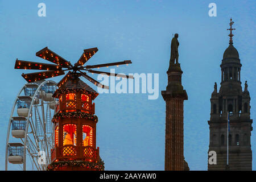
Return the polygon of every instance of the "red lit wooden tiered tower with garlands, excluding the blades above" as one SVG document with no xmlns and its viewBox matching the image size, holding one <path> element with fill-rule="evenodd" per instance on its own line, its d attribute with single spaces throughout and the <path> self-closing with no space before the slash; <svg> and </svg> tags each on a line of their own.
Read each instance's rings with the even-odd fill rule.
<svg viewBox="0 0 256 182">
<path fill-rule="evenodd" d="M 55 148 L 51 151 L 53 170 L 102 170 L 99 148 L 96 147 L 96 124 L 92 101 L 98 93 L 80 80 L 68 80 L 53 94 L 59 99 L 53 116 Z"/>
</svg>

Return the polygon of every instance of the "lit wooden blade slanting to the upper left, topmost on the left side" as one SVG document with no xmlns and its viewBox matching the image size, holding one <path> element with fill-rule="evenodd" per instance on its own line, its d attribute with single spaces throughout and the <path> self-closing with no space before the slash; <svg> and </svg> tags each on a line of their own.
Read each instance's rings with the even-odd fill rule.
<svg viewBox="0 0 256 182">
<path fill-rule="evenodd" d="M 68 68 L 71 63 L 65 60 L 63 57 L 57 55 L 55 52 L 48 49 L 48 47 L 43 48 L 42 50 L 36 52 L 36 56 L 41 57 L 47 61 L 51 61 L 61 67 Z"/>
</svg>

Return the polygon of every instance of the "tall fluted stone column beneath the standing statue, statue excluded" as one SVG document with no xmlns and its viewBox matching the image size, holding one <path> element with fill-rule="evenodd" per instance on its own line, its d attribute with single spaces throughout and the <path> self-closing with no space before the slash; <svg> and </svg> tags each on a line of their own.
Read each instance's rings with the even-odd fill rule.
<svg viewBox="0 0 256 182">
<path fill-rule="evenodd" d="M 181 85 L 182 71 L 179 63 L 171 63 L 167 71 L 168 85 L 162 91 L 166 101 L 166 146 L 164 169 L 166 171 L 188 170 L 183 154 L 183 102 L 188 100 Z"/>
</svg>

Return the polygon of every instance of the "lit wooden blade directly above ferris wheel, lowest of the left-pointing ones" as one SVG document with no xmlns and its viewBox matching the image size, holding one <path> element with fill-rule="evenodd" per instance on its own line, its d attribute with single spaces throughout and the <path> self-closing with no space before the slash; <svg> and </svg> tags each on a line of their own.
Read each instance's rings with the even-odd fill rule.
<svg viewBox="0 0 256 182">
<path fill-rule="evenodd" d="M 43 80 L 46 78 L 56 77 L 60 75 L 64 75 L 64 71 L 45 71 L 45 72 L 35 72 L 35 73 L 22 73 L 22 77 L 27 80 L 27 82 L 34 82 Z"/>
</svg>

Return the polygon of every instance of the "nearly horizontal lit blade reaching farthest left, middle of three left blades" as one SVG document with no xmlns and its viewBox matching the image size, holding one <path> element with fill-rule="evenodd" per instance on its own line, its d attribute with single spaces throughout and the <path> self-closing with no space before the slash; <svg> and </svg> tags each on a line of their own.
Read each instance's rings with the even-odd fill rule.
<svg viewBox="0 0 256 182">
<path fill-rule="evenodd" d="M 23 61 L 16 59 L 14 66 L 15 69 L 39 69 L 39 70 L 49 70 L 49 71 L 60 71 L 61 66 L 55 64 L 46 63 L 36 63 L 32 61 Z"/>
</svg>

